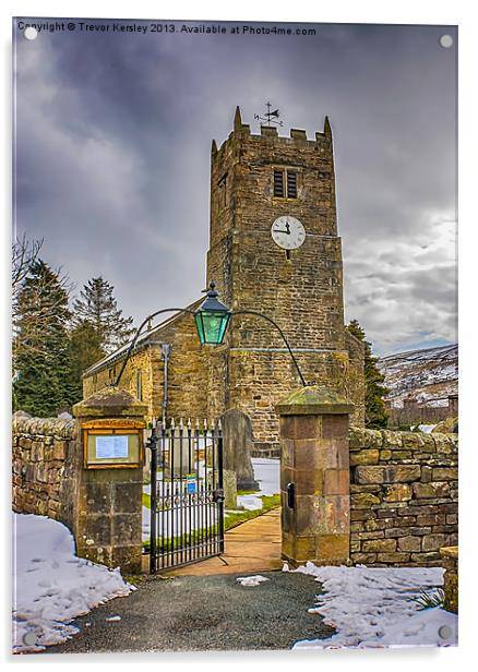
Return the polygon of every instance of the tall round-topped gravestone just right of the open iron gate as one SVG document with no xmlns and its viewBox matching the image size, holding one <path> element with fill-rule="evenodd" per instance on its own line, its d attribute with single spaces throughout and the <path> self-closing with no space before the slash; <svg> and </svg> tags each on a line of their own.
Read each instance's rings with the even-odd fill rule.
<svg viewBox="0 0 478 672">
<path fill-rule="evenodd" d="M 238 490 L 259 490 L 251 461 L 252 423 L 241 410 L 227 410 L 220 418 L 224 436 L 224 470 L 234 471 Z"/>
</svg>

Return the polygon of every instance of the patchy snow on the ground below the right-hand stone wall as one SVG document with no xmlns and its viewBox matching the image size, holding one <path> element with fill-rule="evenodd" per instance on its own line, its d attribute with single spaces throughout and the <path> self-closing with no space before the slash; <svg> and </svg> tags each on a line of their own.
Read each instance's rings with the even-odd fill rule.
<svg viewBox="0 0 478 672">
<path fill-rule="evenodd" d="M 284 571 L 288 572 L 287 565 Z M 309 611 L 319 613 L 337 634 L 301 640 L 294 648 L 365 648 L 456 646 L 458 617 L 440 608 L 420 610 L 411 601 L 421 590 L 433 593 L 443 584 L 440 567 L 316 567 L 308 562 L 296 572 L 323 584 L 324 595 Z"/>
</svg>

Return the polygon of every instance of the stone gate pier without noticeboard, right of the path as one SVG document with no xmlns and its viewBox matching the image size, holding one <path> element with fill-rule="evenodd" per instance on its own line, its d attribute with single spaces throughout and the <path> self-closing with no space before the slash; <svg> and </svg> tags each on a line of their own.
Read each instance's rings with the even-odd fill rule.
<svg viewBox="0 0 478 672">
<path fill-rule="evenodd" d="M 349 560 L 348 419 L 354 405 L 320 386 L 276 406 L 280 416 L 283 557 L 292 564 Z"/>
</svg>

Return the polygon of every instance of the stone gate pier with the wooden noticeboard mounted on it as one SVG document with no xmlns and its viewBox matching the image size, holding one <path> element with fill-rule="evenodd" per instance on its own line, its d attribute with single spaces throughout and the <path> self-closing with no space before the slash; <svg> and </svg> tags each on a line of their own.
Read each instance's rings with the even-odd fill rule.
<svg viewBox="0 0 478 672">
<path fill-rule="evenodd" d="M 105 387 L 73 406 L 77 421 L 77 502 L 74 517 L 76 552 L 82 557 L 141 572 L 143 429 L 147 407 L 126 389 Z M 138 435 L 138 456 L 88 464 L 87 432 L 109 436 Z M 113 434 L 112 434 L 113 435 Z"/>
</svg>

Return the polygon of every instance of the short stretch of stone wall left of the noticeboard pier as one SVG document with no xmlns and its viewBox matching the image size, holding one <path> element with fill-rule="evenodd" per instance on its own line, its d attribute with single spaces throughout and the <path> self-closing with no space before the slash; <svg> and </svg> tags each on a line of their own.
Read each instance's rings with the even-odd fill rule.
<svg viewBox="0 0 478 672">
<path fill-rule="evenodd" d="M 75 421 L 15 413 L 13 511 L 49 516 L 72 528 Z"/>
</svg>

